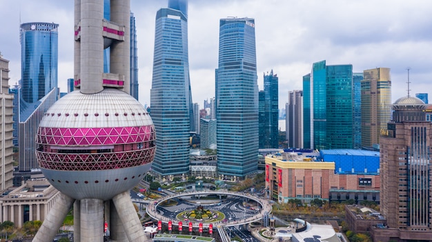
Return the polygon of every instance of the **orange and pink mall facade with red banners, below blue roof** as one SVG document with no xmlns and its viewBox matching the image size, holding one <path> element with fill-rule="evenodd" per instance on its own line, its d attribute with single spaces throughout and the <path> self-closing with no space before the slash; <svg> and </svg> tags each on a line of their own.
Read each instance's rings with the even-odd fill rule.
<svg viewBox="0 0 432 242">
<path fill-rule="evenodd" d="M 300 199 L 379 201 L 380 176 L 377 174 L 342 174 L 335 172 L 335 162 L 313 161 L 297 153 L 266 158 L 266 188 L 273 201 L 288 203 Z"/>
</svg>

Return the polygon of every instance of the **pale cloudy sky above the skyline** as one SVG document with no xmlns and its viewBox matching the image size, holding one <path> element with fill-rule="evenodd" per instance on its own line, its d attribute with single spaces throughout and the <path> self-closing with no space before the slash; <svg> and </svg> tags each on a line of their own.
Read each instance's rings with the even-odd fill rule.
<svg viewBox="0 0 432 242">
<path fill-rule="evenodd" d="M 59 87 L 73 77 L 73 1 L 0 0 L 0 51 L 10 60 L 10 85 L 21 76 L 19 23 L 59 23 Z M 137 21 L 139 101 L 150 104 L 155 15 L 166 0 L 131 0 Z M 302 89 L 312 63 L 353 65 L 355 72 L 391 68 L 392 101 L 432 94 L 432 1 L 415 0 L 190 0 L 188 36 L 193 102 L 215 95 L 219 19 L 255 18 L 259 89 L 263 74 L 279 77 L 279 107 Z M 431 97 L 432 98 L 432 97 Z"/>
</svg>

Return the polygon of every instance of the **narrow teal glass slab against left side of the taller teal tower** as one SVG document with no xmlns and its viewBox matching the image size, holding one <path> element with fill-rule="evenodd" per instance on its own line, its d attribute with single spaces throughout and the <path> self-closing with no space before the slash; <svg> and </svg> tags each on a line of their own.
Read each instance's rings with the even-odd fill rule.
<svg viewBox="0 0 432 242">
<path fill-rule="evenodd" d="M 311 74 L 303 76 L 303 148 L 312 149 Z M 288 115 L 286 115 L 288 117 Z M 288 122 L 286 122 L 288 123 Z M 288 129 L 287 129 L 288 130 Z M 286 137 L 288 139 L 288 137 Z"/>
</svg>

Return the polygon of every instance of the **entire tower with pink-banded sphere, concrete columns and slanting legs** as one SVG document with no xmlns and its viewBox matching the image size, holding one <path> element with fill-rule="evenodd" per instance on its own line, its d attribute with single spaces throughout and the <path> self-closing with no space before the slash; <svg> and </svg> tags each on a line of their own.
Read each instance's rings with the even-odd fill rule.
<svg viewBox="0 0 432 242">
<path fill-rule="evenodd" d="M 130 1 L 75 0 L 75 91 L 44 114 L 37 159 L 61 192 L 33 241 L 52 241 L 74 208 L 75 241 L 146 241 L 129 190 L 155 156 L 155 127 L 130 96 Z M 110 73 L 104 50 L 110 47 Z"/>
</svg>

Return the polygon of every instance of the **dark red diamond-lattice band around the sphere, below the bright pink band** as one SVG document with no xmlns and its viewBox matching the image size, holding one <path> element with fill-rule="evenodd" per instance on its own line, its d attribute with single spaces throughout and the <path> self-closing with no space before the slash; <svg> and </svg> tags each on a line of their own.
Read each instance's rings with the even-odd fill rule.
<svg viewBox="0 0 432 242">
<path fill-rule="evenodd" d="M 145 165 L 153 161 L 155 147 L 112 153 L 63 154 L 37 151 L 41 168 L 50 170 L 111 170 Z"/>
</svg>

